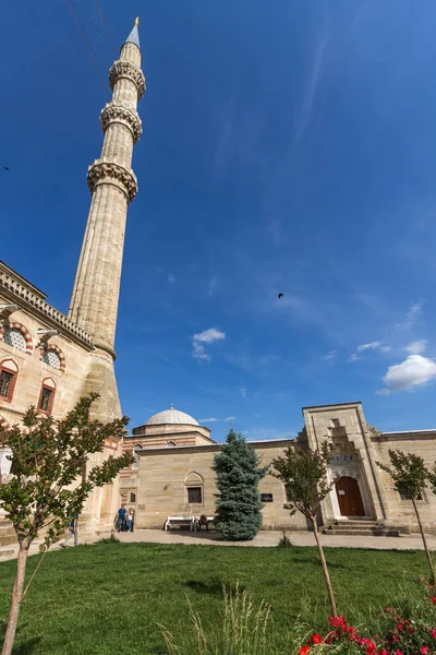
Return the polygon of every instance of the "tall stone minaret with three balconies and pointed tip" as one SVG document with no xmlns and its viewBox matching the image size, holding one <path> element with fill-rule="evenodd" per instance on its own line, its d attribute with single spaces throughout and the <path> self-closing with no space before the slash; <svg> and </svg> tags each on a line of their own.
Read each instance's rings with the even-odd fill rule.
<svg viewBox="0 0 436 655">
<path fill-rule="evenodd" d="M 100 116 L 101 157 L 88 169 L 92 201 L 69 311 L 69 318 L 93 338 L 95 350 L 83 393 L 100 393 L 95 413 L 107 420 L 121 414 L 113 344 L 125 219 L 137 191 L 131 168 L 133 145 L 142 133 L 136 106 L 145 91 L 137 25 L 138 19 L 109 72 L 112 99 Z"/>
</svg>

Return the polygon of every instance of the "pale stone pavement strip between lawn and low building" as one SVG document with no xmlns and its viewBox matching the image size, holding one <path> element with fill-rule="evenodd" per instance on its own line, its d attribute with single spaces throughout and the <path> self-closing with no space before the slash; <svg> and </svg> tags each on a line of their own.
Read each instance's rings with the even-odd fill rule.
<svg viewBox="0 0 436 655">
<path fill-rule="evenodd" d="M 252 541 L 222 541 L 215 531 L 209 533 L 191 533 L 185 529 L 172 528 L 169 532 L 161 529 L 137 529 L 134 533 L 120 533 L 116 536 L 123 543 L 149 543 L 149 544 L 197 544 L 202 546 L 244 546 L 244 547 L 275 547 L 278 545 L 282 533 L 277 531 L 262 531 Z M 315 546 L 315 539 L 312 533 L 304 531 L 288 531 L 288 537 L 293 546 Z M 80 538 L 81 544 L 93 544 L 107 535 L 97 537 Z M 436 535 L 427 535 L 431 550 L 436 551 Z M 31 553 L 38 552 L 40 541 L 32 545 Z M 346 535 L 322 535 L 322 543 L 325 547 L 334 548 L 375 548 L 378 550 L 423 550 L 423 544 L 420 535 L 404 535 L 401 537 L 362 537 Z M 72 547 L 72 546 L 71 546 Z M 51 547 L 50 550 L 59 550 L 59 544 Z M 16 546 L 2 546 L 0 548 L 0 561 L 14 559 L 16 557 Z"/>
</svg>

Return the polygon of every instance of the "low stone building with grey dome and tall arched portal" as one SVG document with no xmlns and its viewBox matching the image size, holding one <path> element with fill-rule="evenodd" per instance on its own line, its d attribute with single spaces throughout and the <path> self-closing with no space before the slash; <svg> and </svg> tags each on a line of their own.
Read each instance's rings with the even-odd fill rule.
<svg viewBox="0 0 436 655">
<path fill-rule="evenodd" d="M 304 407 L 304 429 L 296 439 L 254 441 L 264 465 L 287 448 L 330 444 L 329 479 L 335 487 L 322 504 L 319 524 L 327 534 L 398 535 L 417 531 L 412 502 L 398 493 L 378 465 L 389 463 L 389 449 L 413 452 L 433 466 L 436 430 L 380 433 L 365 420 L 361 403 Z M 214 443 L 191 416 L 174 409 L 152 417 L 133 430 L 123 448 L 136 462 L 122 473 L 120 491 L 136 510 L 136 526 L 161 527 L 170 515 L 214 515 L 216 483 Z M 206 428 L 203 428 L 206 430 Z M 263 527 L 307 529 L 302 515 L 284 510 L 286 489 L 268 474 L 259 485 L 264 501 Z M 436 496 L 424 489 L 419 501 L 423 522 L 436 531 Z"/>
</svg>

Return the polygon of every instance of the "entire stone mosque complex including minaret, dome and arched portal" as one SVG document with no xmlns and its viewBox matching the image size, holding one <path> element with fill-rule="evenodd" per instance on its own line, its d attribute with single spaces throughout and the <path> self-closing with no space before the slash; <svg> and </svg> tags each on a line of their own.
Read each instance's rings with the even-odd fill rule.
<svg viewBox="0 0 436 655">
<path fill-rule="evenodd" d="M 133 146 L 142 123 L 137 103 L 145 92 L 137 20 L 109 72 L 110 102 L 100 115 L 104 144 L 88 168 L 90 207 L 68 315 L 16 271 L 0 262 L 0 422 L 20 422 L 29 405 L 60 418 L 76 401 L 98 391 L 94 413 L 100 420 L 121 416 L 113 362 L 120 276 L 128 207 L 137 192 L 132 170 Z M 433 465 L 436 430 L 380 433 L 365 420 L 361 403 L 303 408 L 304 427 L 295 440 L 253 442 L 268 464 L 283 449 L 331 445 L 329 476 L 335 487 L 323 503 L 320 523 L 327 534 L 399 534 L 416 531 L 407 495 L 398 493 L 376 462 L 388 450 L 414 452 Z M 170 515 L 215 513 L 214 455 L 220 444 L 210 430 L 174 407 L 140 427 L 122 442 L 107 439 L 110 454 L 132 450 L 131 468 L 96 489 L 81 521 L 88 533 L 109 531 L 123 500 L 135 509 L 136 528 L 161 528 Z M 9 450 L 0 444 L 0 484 L 11 475 Z M 264 528 L 307 529 L 302 516 L 283 509 L 286 489 L 267 475 L 261 483 Z M 427 529 L 436 529 L 436 497 L 423 489 L 419 500 Z M 14 539 L 0 515 L 0 545 Z"/>
</svg>

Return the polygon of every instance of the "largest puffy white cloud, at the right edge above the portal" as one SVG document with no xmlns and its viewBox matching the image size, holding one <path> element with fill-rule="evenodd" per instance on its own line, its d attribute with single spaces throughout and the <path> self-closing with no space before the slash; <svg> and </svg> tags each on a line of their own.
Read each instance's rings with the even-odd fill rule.
<svg viewBox="0 0 436 655">
<path fill-rule="evenodd" d="M 432 380 L 436 380 L 436 361 L 422 355 L 409 355 L 401 364 L 388 368 L 383 379 L 386 389 L 378 393 L 388 395 L 392 391 L 411 391 Z"/>
</svg>

